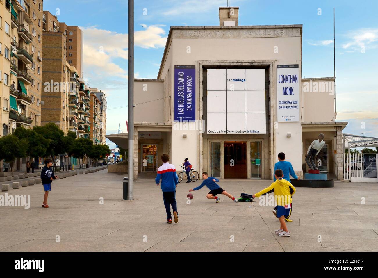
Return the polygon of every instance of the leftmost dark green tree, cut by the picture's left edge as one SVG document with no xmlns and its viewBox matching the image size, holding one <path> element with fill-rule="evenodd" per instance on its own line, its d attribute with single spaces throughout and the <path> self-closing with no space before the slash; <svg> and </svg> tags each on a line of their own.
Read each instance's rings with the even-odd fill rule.
<svg viewBox="0 0 378 278">
<path fill-rule="evenodd" d="M 0 138 L 0 159 L 12 162 L 16 158 L 26 156 L 28 141 L 26 139 L 19 140 L 15 135 L 7 135 Z"/>
</svg>

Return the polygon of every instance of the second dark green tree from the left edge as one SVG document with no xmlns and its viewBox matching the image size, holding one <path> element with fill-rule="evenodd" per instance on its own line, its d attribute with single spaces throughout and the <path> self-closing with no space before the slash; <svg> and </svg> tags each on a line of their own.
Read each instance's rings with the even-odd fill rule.
<svg viewBox="0 0 378 278">
<path fill-rule="evenodd" d="M 29 157 L 44 157 L 46 154 L 46 147 L 50 144 L 50 139 L 44 138 L 38 134 L 34 129 L 26 129 L 24 127 L 17 127 L 13 133 L 19 140 L 25 139 L 27 142 L 26 156 Z"/>
</svg>

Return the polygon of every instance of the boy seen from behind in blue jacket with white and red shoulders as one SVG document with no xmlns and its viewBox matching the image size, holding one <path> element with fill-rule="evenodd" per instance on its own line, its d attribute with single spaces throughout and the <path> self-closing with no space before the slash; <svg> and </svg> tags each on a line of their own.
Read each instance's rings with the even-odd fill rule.
<svg viewBox="0 0 378 278">
<path fill-rule="evenodd" d="M 177 202 L 176 202 L 176 187 L 178 184 L 178 177 L 176 174 L 176 168 L 174 165 L 169 164 L 169 155 L 162 154 L 161 160 L 163 160 L 163 165 L 158 169 L 158 174 L 156 175 L 156 185 L 160 184 L 161 179 L 161 191 L 163 191 L 163 201 L 167 212 L 167 223 L 172 223 L 172 214 L 170 213 L 170 206 L 172 206 L 173 216 L 175 223 L 178 222 L 177 213 Z"/>
</svg>

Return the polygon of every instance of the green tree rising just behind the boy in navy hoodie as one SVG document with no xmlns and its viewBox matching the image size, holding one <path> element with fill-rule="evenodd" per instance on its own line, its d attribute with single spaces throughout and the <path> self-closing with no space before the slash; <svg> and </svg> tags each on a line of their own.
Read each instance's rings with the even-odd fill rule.
<svg viewBox="0 0 378 278">
<path fill-rule="evenodd" d="M 54 155 L 63 154 L 66 149 L 63 130 L 54 123 L 48 123 L 45 126 L 35 126 L 33 130 L 43 138 L 50 139 L 50 143 L 46 146 L 46 156 L 51 157 L 55 165 Z"/>
</svg>

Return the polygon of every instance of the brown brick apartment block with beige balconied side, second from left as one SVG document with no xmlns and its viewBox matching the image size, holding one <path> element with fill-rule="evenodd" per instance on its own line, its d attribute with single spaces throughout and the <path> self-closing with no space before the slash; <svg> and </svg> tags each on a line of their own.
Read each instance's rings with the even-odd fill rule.
<svg viewBox="0 0 378 278">
<path fill-rule="evenodd" d="M 45 87 L 42 95 L 44 101 L 42 124 L 54 122 L 59 124 L 65 134 L 70 130 L 78 137 L 84 137 L 83 118 L 85 117 L 82 110 L 89 107 L 89 103 L 83 104 L 82 101 L 79 101 L 86 94 L 81 70 L 76 68 L 76 66 L 82 68 L 82 59 L 75 60 L 73 63 L 70 60 L 71 56 L 68 57 L 68 51 L 70 51 L 68 48 L 72 49 L 74 43 L 77 42 L 77 40 L 74 42 L 71 39 L 71 47 L 68 47 L 68 34 L 73 33 L 73 31 L 69 31 L 71 27 L 64 22 L 59 22 L 51 12 L 43 11 L 43 49 L 45 50 L 43 61 L 46 67 L 42 73 Z M 75 28 L 71 29 L 76 30 Z M 80 29 L 75 33 L 80 34 L 80 38 L 82 37 Z M 79 41 L 82 43 L 81 40 Z M 53 89 L 51 90 L 51 88 Z"/>
</svg>

